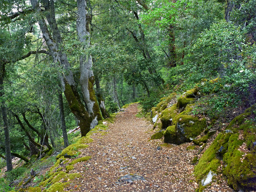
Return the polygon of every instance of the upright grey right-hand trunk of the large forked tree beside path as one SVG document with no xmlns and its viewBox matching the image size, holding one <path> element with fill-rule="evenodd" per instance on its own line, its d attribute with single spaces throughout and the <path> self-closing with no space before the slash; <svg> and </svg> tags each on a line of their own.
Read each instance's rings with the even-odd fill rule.
<svg viewBox="0 0 256 192">
<path fill-rule="evenodd" d="M 87 111 L 92 119 L 90 128 L 94 128 L 99 120 L 102 120 L 99 105 L 94 91 L 94 73 L 92 70 L 92 56 L 86 53 L 86 49 L 91 46 L 90 42 L 90 19 L 88 13 L 87 0 L 77 0 L 77 20 L 76 31 L 81 42 L 83 53 L 80 61 L 80 85 L 86 103 Z"/>
</svg>

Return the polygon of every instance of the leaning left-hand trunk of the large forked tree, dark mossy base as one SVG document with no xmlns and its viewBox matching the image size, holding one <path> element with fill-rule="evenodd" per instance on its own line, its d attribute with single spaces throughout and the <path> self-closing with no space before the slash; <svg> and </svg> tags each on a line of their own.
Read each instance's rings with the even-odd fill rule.
<svg viewBox="0 0 256 192">
<path fill-rule="evenodd" d="M 75 86 L 73 73 L 70 70 L 70 65 L 68 63 L 67 56 L 62 51 L 63 50 L 62 49 L 63 41 L 62 41 L 61 34 L 60 34 L 57 24 L 56 24 L 54 0 L 50 0 L 50 1 L 43 0 L 44 8 L 46 10 L 45 16 L 49 23 L 51 31 L 53 33 L 54 40 L 47 28 L 47 24 L 45 22 L 44 16 L 41 13 L 41 9 L 39 7 L 39 3 L 37 2 L 37 0 L 31 0 L 31 4 L 32 4 L 33 9 L 39 16 L 38 24 L 40 26 L 40 29 L 43 34 L 43 38 L 46 41 L 47 47 L 49 49 L 49 52 L 50 52 L 54 62 L 61 63 L 65 70 L 63 77 L 61 78 L 62 85 L 64 88 L 64 95 L 66 97 L 66 100 L 68 102 L 71 112 L 75 115 L 75 117 L 79 121 L 81 135 L 85 136 L 91 129 L 93 118 L 88 113 L 88 111 L 84 107 L 83 103 L 81 102 L 80 96 L 79 96 L 76 86 Z M 87 58 L 87 59 L 89 59 L 89 58 Z M 82 72 L 84 72 L 84 71 L 82 71 Z M 93 77 L 90 79 L 90 81 L 88 81 L 88 84 L 89 85 L 91 84 L 91 86 L 88 86 L 90 89 L 92 89 L 92 86 L 93 86 L 92 81 L 94 81 Z M 93 91 L 91 91 L 89 93 L 93 93 Z M 89 94 L 88 96 L 90 97 L 91 95 Z M 95 125 L 95 123 L 93 123 L 93 125 Z"/>
</svg>

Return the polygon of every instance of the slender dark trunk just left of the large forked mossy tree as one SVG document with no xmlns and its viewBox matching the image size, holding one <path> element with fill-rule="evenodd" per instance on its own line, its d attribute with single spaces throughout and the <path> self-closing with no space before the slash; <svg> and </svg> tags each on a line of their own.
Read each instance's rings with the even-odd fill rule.
<svg viewBox="0 0 256 192">
<path fill-rule="evenodd" d="M 61 88 L 61 85 L 60 85 Z M 60 105 L 60 116 L 61 116 L 61 123 L 62 123 L 62 135 L 64 140 L 64 147 L 66 148 L 68 144 L 68 138 L 66 134 L 66 123 L 65 123 L 65 116 L 64 116 L 64 106 L 63 106 L 63 97 L 62 92 L 59 91 L 59 105 Z"/>
</svg>

